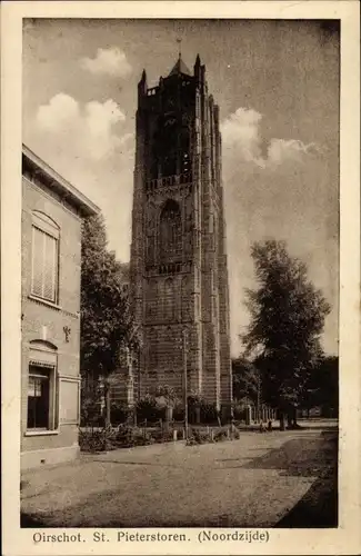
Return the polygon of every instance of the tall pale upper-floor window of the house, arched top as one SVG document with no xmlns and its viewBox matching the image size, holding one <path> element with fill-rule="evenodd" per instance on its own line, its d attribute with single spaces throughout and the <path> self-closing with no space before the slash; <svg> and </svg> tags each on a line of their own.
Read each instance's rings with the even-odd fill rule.
<svg viewBox="0 0 361 556">
<path fill-rule="evenodd" d="M 58 301 L 59 228 L 46 215 L 32 215 L 31 294 Z"/>
</svg>

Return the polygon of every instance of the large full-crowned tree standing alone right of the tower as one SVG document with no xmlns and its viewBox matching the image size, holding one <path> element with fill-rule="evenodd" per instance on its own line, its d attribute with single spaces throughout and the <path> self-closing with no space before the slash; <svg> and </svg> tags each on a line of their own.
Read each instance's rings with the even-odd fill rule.
<svg viewBox="0 0 361 556">
<path fill-rule="evenodd" d="M 247 290 L 250 325 L 241 336 L 262 376 L 262 396 L 297 426 L 297 407 L 310 374 L 318 366 L 324 319 L 330 306 L 307 277 L 307 267 L 291 257 L 284 241 L 255 242 L 251 248 L 259 288 Z"/>
</svg>

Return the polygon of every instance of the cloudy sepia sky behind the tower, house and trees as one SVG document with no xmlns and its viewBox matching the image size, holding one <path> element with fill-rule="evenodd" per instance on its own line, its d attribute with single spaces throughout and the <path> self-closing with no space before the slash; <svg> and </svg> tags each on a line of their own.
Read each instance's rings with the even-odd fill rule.
<svg viewBox="0 0 361 556">
<path fill-rule="evenodd" d="M 24 20 L 23 142 L 101 208 L 109 248 L 129 260 L 137 83 L 178 58 L 205 63 L 220 106 L 231 349 L 255 288 L 252 242 L 283 239 L 332 307 L 338 351 L 338 27 L 287 20 Z"/>
</svg>

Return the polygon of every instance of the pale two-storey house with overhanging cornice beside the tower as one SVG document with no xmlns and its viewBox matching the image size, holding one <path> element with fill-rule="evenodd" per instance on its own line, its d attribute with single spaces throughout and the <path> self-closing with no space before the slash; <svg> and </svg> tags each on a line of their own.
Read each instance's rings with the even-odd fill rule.
<svg viewBox="0 0 361 556">
<path fill-rule="evenodd" d="M 23 146 L 22 468 L 79 451 L 81 220 L 98 211 Z"/>
</svg>

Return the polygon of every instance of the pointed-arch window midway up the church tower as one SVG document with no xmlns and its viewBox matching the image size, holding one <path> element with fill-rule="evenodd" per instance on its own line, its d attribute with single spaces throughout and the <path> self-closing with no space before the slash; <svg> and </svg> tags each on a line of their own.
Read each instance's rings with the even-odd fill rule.
<svg viewBox="0 0 361 556">
<path fill-rule="evenodd" d="M 166 201 L 159 222 L 160 259 L 162 262 L 179 260 L 182 252 L 182 217 L 178 202 Z"/>
</svg>

